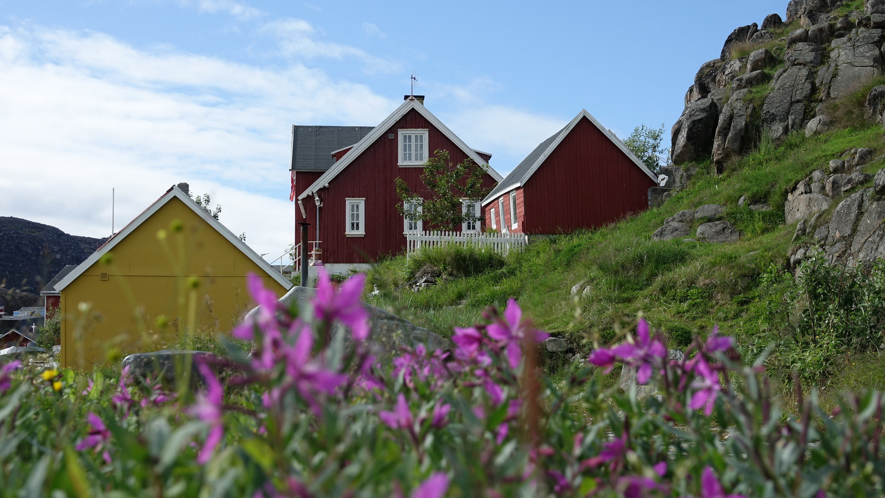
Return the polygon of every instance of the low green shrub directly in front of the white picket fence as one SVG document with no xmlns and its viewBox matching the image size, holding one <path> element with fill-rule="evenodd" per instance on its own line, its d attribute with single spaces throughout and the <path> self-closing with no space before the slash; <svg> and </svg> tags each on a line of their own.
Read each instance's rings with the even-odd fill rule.
<svg viewBox="0 0 885 498">
<path fill-rule="evenodd" d="M 446 244 L 421 248 L 408 257 L 406 269 L 409 280 L 414 279 L 415 273 L 427 265 L 438 268 L 444 276 L 462 278 L 501 268 L 504 257 L 494 250 L 476 245 Z"/>
</svg>

